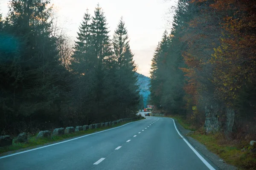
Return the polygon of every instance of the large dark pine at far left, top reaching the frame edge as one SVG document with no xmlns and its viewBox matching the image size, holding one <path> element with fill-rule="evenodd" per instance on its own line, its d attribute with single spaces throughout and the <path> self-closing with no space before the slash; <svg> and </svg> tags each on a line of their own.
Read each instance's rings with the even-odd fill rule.
<svg viewBox="0 0 256 170">
<path fill-rule="evenodd" d="M 10 2 L 5 32 L 7 42 L 12 41 L 12 50 L 4 52 L 0 62 L 4 82 L 1 101 L 5 103 L 1 113 L 6 115 L 4 125 L 9 130 L 30 131 L 30 127 L 49 122 L 50 117 L 58 123 L 56 113 L 60 113 L 63 102 L 66 70 L 59 63 L 55 38 L 50 36 L 48 5 L 45 0 Z M 17 122 L 23 126 L 15 127 Z"/>
</svg>

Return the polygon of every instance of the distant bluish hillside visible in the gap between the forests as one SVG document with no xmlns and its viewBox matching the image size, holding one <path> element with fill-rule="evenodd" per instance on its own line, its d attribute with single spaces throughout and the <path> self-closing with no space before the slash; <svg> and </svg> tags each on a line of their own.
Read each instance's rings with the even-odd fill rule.
<svg viewBox="0 0 256 170">
<path fill-rule="evenodd" d="M 150 94 L 150 91 L 149 91 L 150 78 L 139 73 L 137 73 L 137 75 L 138 75 L 138 85 L 140 85 L 140 94 L 143 95 L 144 107 L 146 107 L 147 98 L 148 98 L 148 95 Z"/>
</svg>

